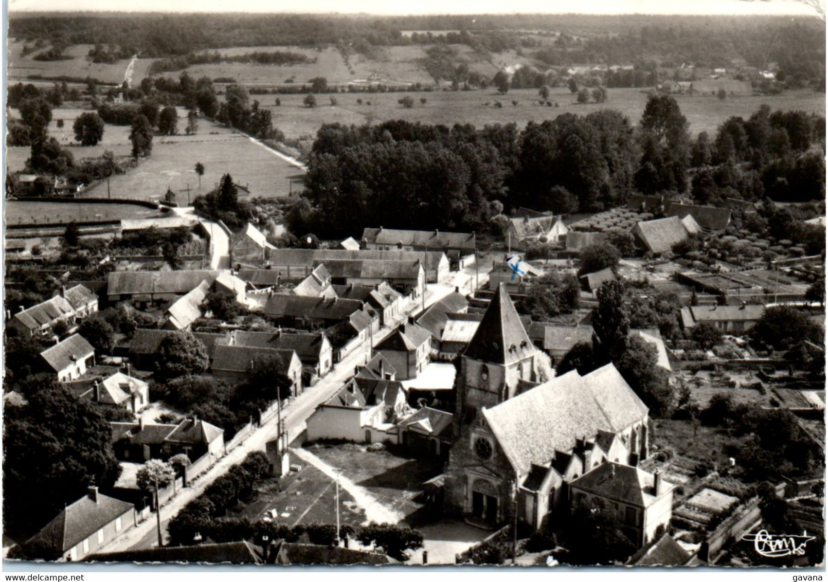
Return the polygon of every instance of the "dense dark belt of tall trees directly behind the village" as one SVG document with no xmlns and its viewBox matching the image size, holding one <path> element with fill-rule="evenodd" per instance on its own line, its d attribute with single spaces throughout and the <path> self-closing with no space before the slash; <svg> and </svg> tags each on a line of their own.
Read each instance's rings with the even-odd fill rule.
<svg viewBox="0 0 828 582">
<path fill-rule="evenodd" d="M 748 121 L 730 118 L 713 139 L 701 132 L 693 140 L 669 95 L 647 100 L 638 127 L 611 109 L 566 113 L 522 131 L 513 124 L 325 124 L 312 147 L 307 203 L 288 218 L 297 230 L 333 238 L 378 225 L 489 228 L 498 204 L 598 211 L 633 191 L 710 205 L 766 195 L 820 200 L 824 125 L 819 116 L 763 106 Z M 356 223 L 346 227 L 339 215 Z"/>
</svg>

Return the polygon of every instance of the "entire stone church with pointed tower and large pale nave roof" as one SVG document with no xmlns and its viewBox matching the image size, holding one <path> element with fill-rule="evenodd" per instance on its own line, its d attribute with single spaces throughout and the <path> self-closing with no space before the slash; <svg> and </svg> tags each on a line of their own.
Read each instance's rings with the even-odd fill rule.
<svg viewBox="0 0 828 582">
<path fill-rule="evenodd" d="M 462 356 L 445 509 L 498 527 L 556 528 L 569 485 L 647 457 L 648 411 L 610 363 L 541 382 L 540 354 L 500 286 Z"/>
</svg>

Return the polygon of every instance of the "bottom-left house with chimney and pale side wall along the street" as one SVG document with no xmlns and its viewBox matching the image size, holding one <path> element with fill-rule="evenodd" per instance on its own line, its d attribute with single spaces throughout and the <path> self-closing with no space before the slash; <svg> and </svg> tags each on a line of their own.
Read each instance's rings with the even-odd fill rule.
<svg viewBox="0 0 828 582">
<path fill-rule="evenodd" d="M 46 524 L 23 544 L 31 559 L 78 561 L 137 525 L 135 506 L 98 493 L 89 492 Z"/>
</svg>

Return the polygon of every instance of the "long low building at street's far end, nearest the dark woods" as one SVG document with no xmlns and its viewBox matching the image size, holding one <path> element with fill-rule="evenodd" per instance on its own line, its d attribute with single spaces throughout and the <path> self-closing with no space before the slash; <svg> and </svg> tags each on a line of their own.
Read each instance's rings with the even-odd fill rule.
<svg viewBox="0 0 828 582">
<path fill-rule="evenodd" d="M 474 264 L 477 238 L 474 233 L 441 233 L 439 230 L 398 230 L 395 228 L 364 228 L 359 243 L 368 249 L 386 251 L 428 251 L 445 253 L 452 264 L 462 269 Z"/>
</svg>

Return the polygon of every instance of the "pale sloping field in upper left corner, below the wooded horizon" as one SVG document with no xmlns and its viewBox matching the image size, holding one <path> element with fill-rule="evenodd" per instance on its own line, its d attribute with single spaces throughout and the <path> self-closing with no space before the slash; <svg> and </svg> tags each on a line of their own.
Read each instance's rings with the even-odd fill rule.
<svg viewBox="0 0 828 582">
<path fill-rule="evenodd" d="M 34 60 L 40 51 L 33 51 L 26 56 L 21 56 L 23 49 L 22 41 L 12 41 L 8 44 L 8 67 L 7 78 L 9 82 L 26 79 L 31 75 L 42 75 L 44 77 L 77 77 L 85 79 L 87 76 L 99 79 L 103 83 L 121 84 L 124 74 L 129 65 L 128 59 L 108 65 L 105 63 L 93 63 L 87 60 L 89 49 L 94 45 L 73 45 L 68 47 L 64 54 L 72 56 L 72 59 L 65 60 Z M 48 47 L 46 47 L 48 48 Z M 45 48 L 42 50 L 46 50 Z M 137 59 L 132 68 L 132 84 L 138 84 L 141 79 L 147 76 L 147 71 L 154 59 Z"/>
</svg>

